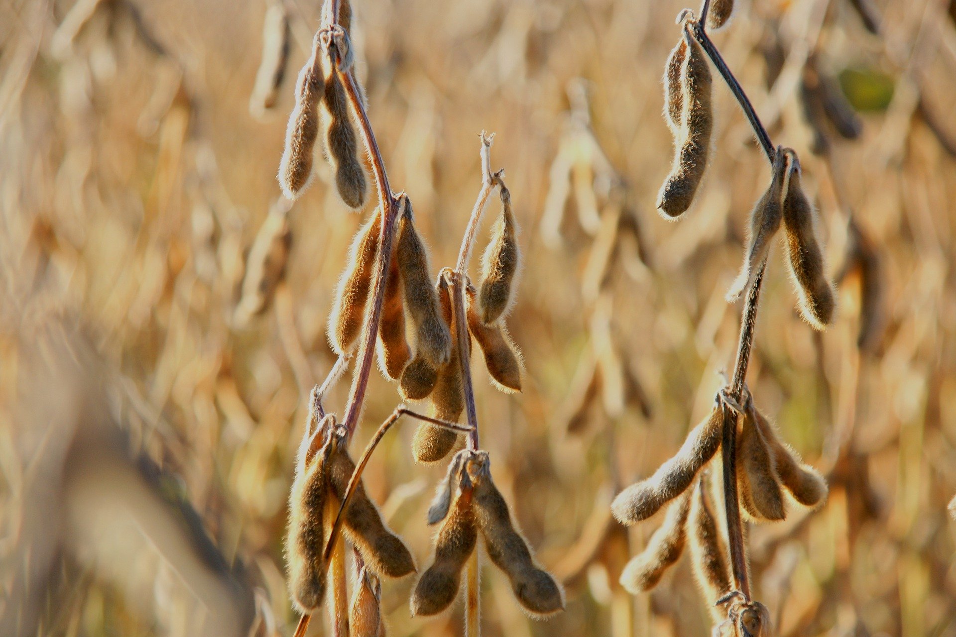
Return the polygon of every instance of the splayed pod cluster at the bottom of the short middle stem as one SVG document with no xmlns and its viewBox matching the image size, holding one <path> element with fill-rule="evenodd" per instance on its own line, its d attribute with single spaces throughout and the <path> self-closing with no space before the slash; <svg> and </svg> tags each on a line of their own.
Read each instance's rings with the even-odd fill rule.
<svg viewBox="0 0 956 637">
<path fill-rule="evenodd" d="M 412 614 L 434 615 L 454 602 L 479 535 L 525 610 L 546 616 L 564 608 L 560 585 L 535 563 L 528 541 L 511 520 L 508 503 L 491 479 L 487 452 L 463 450 L 452 458 L 428 510 L 428 522 L 439 524 L 435 557 L 415 586 Z"/>
</svg>

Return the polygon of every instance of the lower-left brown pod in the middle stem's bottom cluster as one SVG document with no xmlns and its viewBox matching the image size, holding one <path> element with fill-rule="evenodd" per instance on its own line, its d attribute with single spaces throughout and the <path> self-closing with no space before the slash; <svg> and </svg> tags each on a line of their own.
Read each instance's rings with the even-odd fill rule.
<svg viewBox="0 0 956 637">
<path fill-rule="evenodd" d="M 435 615 L 455 601 L 462 569 L 478 541 L 470 483 L 462 485 L 451 512 L 435 539 L 435 560 L 412 593 L 412 615 Z"/>
</svg>

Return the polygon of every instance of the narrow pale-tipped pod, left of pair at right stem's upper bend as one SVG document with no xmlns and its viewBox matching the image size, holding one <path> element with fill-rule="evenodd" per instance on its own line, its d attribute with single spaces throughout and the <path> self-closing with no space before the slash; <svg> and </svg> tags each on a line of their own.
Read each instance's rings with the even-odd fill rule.
<svg viewBox="0 0 956 637">
<path fill-rule="evenodd" d="M 760 264 L 770 252 L 771 239 L 780 229 L 780 222 L 783 220 L 783 188 L 786 185 L 786 177 L 787 157 L 782 149 L 777 147 L 771 170 L 771 184 L 750 211 L 744 265 L 740 268 L 740 275 L 728 289 L 727 300 L 730 303 L 735 302 L 741 293 L 750 287 Z"/>
</svg>

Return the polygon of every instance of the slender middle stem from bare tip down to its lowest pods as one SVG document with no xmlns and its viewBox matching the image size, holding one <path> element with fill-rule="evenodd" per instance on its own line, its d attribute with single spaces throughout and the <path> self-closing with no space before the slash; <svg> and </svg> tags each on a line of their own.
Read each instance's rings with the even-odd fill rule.
<svg viewBox="0 0 956 637">
<path fill-rule="evenodd" d="M 478 200 L 471 210 L 471 217 L 468 219 L 465 237 L 462 239 L 462 247 L 458 251 L 458 263 L 455 265 L 455 272 L 451 284 L 451 304 L 455 313 L 455 335 L 457 337 L 458 360 L 462 366 L 462 390 L 465 393 L 465 415 L 468 426 L 471 431 L 468 432 L 468 449 L 477 451 L 478 443 L 478 414 L 475 409 L 474 387 L 471 383 L 471 356 L 468 346 L 470 345 L 470 335 L 467 328 L 467 315 L 465 313 L 465 287 L 467 286 L 467 267 L 471 260 L 471 252 L 474 249 L 475 237 L 478 234 L 478 228 L 481 227 L 482 217 L 485 215 L 485 208 L 488 207 L 488 198 L 495 184 L 501 180 L 501 173 L 491 173 L 491 141 L 494 134 L 481 134 L 481 169 L 482 184 L 478 192 Z"/>
</svg>

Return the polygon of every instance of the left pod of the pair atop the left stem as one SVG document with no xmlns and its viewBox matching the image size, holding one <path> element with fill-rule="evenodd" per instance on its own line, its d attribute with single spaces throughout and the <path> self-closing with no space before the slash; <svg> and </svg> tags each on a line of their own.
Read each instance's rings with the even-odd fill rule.
<svg viewBox="0 0 956 637">
<path fill-rule="evenodd" d="M 295 199 L 312 179 L 312 159 L 318 138 L 318 102 L 325 93 L 322 55 L 316 34 L 312 57 L 295 80 L 295 108 L 286 127 L 286 146 L 279 162 L 279 185 L 288 199 Z"/>
</svg>

